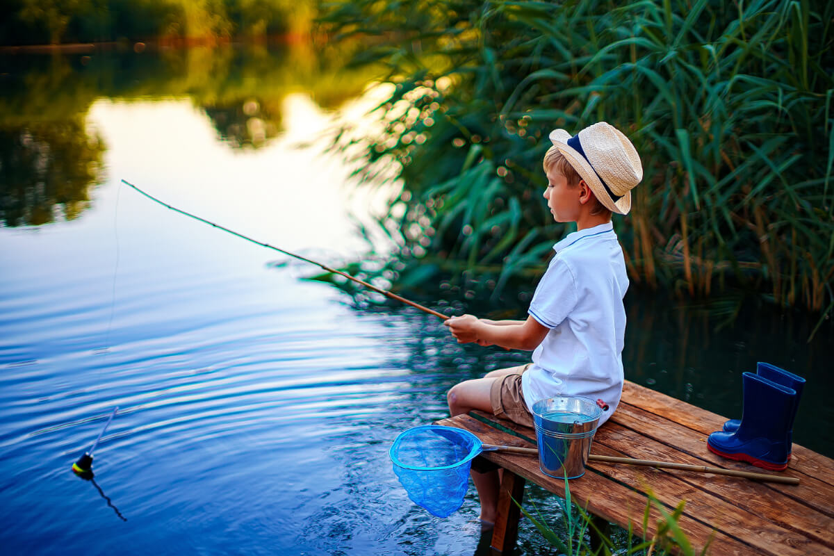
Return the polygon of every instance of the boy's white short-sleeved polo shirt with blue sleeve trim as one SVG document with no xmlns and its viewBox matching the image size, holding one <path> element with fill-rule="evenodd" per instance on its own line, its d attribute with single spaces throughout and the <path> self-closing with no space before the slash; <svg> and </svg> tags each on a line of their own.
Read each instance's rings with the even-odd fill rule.
<svg viewBox="0 0 834 556">
<path fill-rule="evenodd" d="M 529 313 L 550 328 L 521 378 L 527 407 L 553 396 L 601 398 L 614 413 L 623 388 L 620 354 L 628 289 L 622 248 L 609 222 L 568 234 L 535 288 Z"/>
</svg>

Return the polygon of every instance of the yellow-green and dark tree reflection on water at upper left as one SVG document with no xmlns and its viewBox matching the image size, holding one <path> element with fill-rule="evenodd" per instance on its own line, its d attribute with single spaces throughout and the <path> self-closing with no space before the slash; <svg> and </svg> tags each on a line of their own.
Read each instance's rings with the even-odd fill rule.
<svg viewBox="0 0 834 556">
<path fill-rule="evenodd" d="M 334 108 L 363 90 L 367 76 L 334 72 L 338 64 L 306 43 L 0 56 L 0 219 L 38 225 L 88 207 L 108 148 L 87 126 L 99 98 L 188 98 L 220 142 L 262 148 L 284 129 L 289 94 L 305 91 Z"/>
</svg>

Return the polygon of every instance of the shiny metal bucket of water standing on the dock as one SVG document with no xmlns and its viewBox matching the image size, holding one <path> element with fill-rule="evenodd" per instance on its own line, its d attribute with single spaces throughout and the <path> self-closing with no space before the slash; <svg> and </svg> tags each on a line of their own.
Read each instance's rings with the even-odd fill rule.
<svg viewBox="0 0 834 556">
<path fill-rule="evenodd" d="M 584 475 L 601 415 L 596 403 L 579 396 L 556 396 L 534 403 L 541 472 L 555 478 Z"/>
</svg>

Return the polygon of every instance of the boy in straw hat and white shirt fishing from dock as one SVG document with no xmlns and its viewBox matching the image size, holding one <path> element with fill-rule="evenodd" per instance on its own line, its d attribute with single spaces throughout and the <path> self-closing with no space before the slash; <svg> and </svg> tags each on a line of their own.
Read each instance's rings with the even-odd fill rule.
<svg viewBox="0 0 834 556">
<path fill-rule="evenodd" d="M 466 314 L 445 321 L 460 343 L 533 350 L 532 362 L 456 384 L 447 398 L 452 416 L 480 409 L 533 426 L 531 408 L 553 396 L 620 403 L 625 335 L 625 260 L 612 213 L 631 209 L 631 189 L 643 178 L 636 149 L 623 133 L 600 122 L 575 136 L 550 133 L 545 153 L 545 199 L 556 222 L 576 231 L 554 245 L 555 256 L 535 288 L 526 320 L 494 321 Z M 500 477 L 472 472 L 480 518 L 495 523 Z"/>
</svg>

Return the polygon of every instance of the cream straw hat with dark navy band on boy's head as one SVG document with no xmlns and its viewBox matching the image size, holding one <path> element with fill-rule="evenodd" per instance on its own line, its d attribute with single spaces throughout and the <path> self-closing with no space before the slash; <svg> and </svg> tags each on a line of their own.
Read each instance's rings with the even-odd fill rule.
<svg viewBox="0 0 834 556">
<path fill-rule="evenodd" d="M 574 137 L 564 129 L 550 132 L 550 141 L 585 180 L 600 203 L 617 214 L 631 210 L 631 189 L 643 179 L 637 149 L 610 123 L 595 123 Z"/>
</svg>

